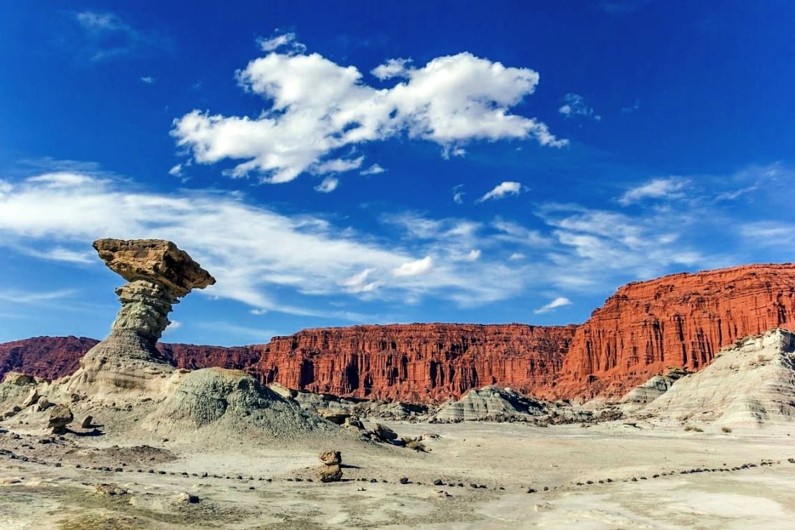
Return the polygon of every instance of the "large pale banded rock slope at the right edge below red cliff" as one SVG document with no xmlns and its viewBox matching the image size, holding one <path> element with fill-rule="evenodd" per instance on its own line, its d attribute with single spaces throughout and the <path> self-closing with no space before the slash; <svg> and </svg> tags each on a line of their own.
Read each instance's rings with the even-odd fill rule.
<svg viewBox="0 0 795 530">
<path fill-rule="evenodd" d="M 723 350 L 700 372 L 636 412 L 639 417 L 750 427 L 795 417 L 795 333 L 775 329 Z"/>
</svg>

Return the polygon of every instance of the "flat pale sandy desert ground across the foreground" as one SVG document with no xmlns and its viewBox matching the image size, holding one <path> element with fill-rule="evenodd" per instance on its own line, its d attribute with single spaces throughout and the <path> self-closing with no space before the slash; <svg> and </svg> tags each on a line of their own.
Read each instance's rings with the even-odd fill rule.
<svg viewBox="0 0 795 530">
<path fill-rule="evenodd" d="M 123 437 L 40 443 L 6 425 L 0 528 L 795 528 L 795 427 L 389 425 L 440 437 L 423 453 L 230 433 L 196 454 Z M 314 479 L 327 448 L 342 451 L 343 482 Z"/>
</svg>

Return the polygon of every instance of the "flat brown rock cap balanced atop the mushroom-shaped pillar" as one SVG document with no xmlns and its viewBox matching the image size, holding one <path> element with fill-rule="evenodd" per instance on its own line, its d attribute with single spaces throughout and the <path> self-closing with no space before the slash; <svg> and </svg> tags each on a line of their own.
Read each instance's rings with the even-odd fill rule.
<svg viewBox="0 0 795 530">
<path fill-rule="evenodd" d="M 97 239 L 94 248 L 114 273 L 127 281 L 163 284 L 174 296 L 215 284 L 215 278 L 184 250 L 164 239 Z"/>
</svg>

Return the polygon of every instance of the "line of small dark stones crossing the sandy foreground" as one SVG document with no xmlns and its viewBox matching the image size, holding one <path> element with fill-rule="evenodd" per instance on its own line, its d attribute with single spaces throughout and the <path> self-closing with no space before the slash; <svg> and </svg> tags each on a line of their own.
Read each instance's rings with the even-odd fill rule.
<svg viewBox="0 0 795 530">
<path fill-rule="evenodd" d="M 51 462 L 45 462 L 44 460 L 40 460 L 40 459 L 35 458 L 35 457 L 34 458 L 29 458 L 29 457 L 27 457 L 25 455 L 18 455 L 17 453 L 14 453 L 14 451 L 10 451 L 10 450 L 7 450 L 7 449 L 0 449 L 0 455 L 6 456 L 6 457 L 8 457 L 8 458 L 10 458 L 12 460 L 16 459 L 16 460 L 20 460 L 21 462 L 30 462 L 30 463 L 34 463 L 34 464 L 39 464 L 41 466 L 50 466 L 50 465 L 52 465 L 54 467 L 62 467 L 63 466 L 62 462 L 52 462 L 52 463 Z M 787 462 L 789 462 L 790 464 L 795 464 L 795 458 L 787 458 Z M 664 477 L 674 476 L 674 475 L 677 475 L 677 474 L 722 473 L 722 472 L 742 471 L 742 470 L 751 469 L 751 468 L 754 468 L 754 467 L 757 467 L 757 466 L 770 466 L 770 467 L 772 467 L 772 466 L 776 466 L 776 465 L 779 465 L 779 464 L 781 464 L 780 460 L 771 460 L 771 459 L 768 459 L 768 458 L 763 458 L 758 464 L 754 463 L 754 462 L 747 462 L 747 463 L 743 463 L 743 464 L 741 464 L 739 466 L 732 466 L 732 467 L 713 467 L 713 468 L 694 467 L 694 468 L 689 469 L 689 470 L 668 471 L 668 472 L 653 474 L 653 475 L 651 475 L 650 478 L 651 479 L 664 478 Z M 176 471 L 165 471 L 165 470 L 154 470 L 154 469 L 144 470 L 144 469 L 140 469 L 140 468 L 136 469 L 136 470 L 133 470 L 133 468 L 127 467 L 126 464 L 122 464 L 122 467 L 83 466 L 81 464 L 75 464 L 75 468 L 76 469 L 83 469 L 83 470 L 92 470 L 92 471 L 103 471 L 103 472 L 110 472 L 110 473 L 147 473 L 147 474 L 171 475 L 171 476 L 181 477 L 181 478 L 195 477 L 195 478 L 217 478 L 217 479 L 223 479 L 223 480 L 237 480 L 237 481 L 245 481 L 245 482 L 273 482 L 273 478 L 258 477 L 258 478 L 255 479 L 253 476 L 249 476 L 248 478 L 246 478 L 246 477 L 243 477 L 240 474 L 232 476 L 232 475 L 208 474 L 207 472 L 204 472 L 204 473 L 201 473 L 201 474 L 199 474 L 199 473 L 190 473 L 189 474 L 189 473 L 187 473 L 185 471 L 176 472 Z M 638 481 L 642 481 L 642 480 L 649 480 L 650 478 L 646 477 L 646 476 L 623 478 L 623 479 L 619 479 L 619 480 L 613 480 L 612 478 L 605 478 L 605 479 L 600 479 L 598 481 L 588 480 L 588 481 L 585 481 L 585 482 L 581 482 L 581 481 L 572 482 L 571 484 L 568 484 L 568 485 L 553 486 L 552 488 L 550 488 L 549 486 L 544 486 L 544 488 L 542 490 L 543 491 L 555 491 L 557 489 L 572 489 L 574 487 L 595 486 L 597 484 L 611 484 L 611 483 L 617 483 L 619 481 L 620 482 L 638 482 Z M 314 482 L 312 480 L 312 478 L 301 478 L 301 477 L 281 478 L 281 479 L 277 478 L 277 480 L 283 480 L 285 482 Z M 377 482 L 382 482 L 382 483 L 387 483 L 387 484 L 389 483 L 389 481 L 387 481 L 386 479 L 381 479 L 379 481 L 377 478 L 358 478 L 358 479 L 355 479 L 355 481 L 358 481 L 358 482 L 370 482 L 370 483 L 377 483 Z M 409 478 L 407 478 L 407 477 L 401 478 L 398 482 L 400 484 L 416 484 L 417 486 L 423 486 L 422 482 L 411 482 L 409 480 Z M 448 487 L 456 487 L 457 486 L 457 487 L 460 487 L 460 488 L 466 487 L 463 484 L 463 482 L 444 482 L 440 478 L 437 478 L 435 481 L 433 481 L 432 485 L 433 486 L 448 486 Z M 472 489 L 489 489 L 489 487 L 486 486 L 485 484 L 471 483 L 471 484 L 469 484 L 469 487 L 472 488 Z M 250 486 L 249 489 L 255 489 L 255 488 L 254 488 L 254 486 Z M 502 486 L 493 486 L 491 489 L 505 489 L 505 488 L 502 487 Z M 527 489 L 527 493 L 538 493 L 538 490 L 530 487 L 530 488 Z"/>
</svg>

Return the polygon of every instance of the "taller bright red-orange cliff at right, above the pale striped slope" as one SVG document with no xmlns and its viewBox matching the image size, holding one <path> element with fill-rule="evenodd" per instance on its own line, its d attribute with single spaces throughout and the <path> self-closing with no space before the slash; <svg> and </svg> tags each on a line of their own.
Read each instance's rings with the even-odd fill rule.
<svg viewBox="0 0 795 530">
<path fill-rule="evenodd" d="M 577 330 L 547 394 L 621 395 L 667 366 L 704 368 L 723 346 L 795 329 L 795 265 L 748 265 L 626 284 Z"/>
</svg>

